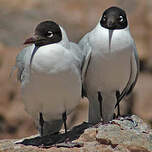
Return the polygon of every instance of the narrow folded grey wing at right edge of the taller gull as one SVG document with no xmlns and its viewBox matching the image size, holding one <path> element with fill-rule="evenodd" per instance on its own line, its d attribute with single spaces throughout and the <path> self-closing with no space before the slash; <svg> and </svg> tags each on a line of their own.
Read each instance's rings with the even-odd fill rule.
<svg viewBox="0 0 152 152">
<path fill-rule="evenodd" d="M 130 77 L 129 77 L 129 81 L 125 87 L 125 89 L 122 91 L 122 93 L 120 94 L 120 96 L 118 97 L 118 102 L 116 104 L 115 107 L 117 107 L 120 103 L 120 101 L 127 95 L 129 95 L 133 88 L 135 87 L 135 84 L 137 82 L 138 79 L 138 75 L 139 75 L 139 57 L 137 54 L 137 50 L 136 50 L 136 46 L 135 44 L 133 44 L 133 54 L 131 56 L 130 59 Z"/>
</svg>

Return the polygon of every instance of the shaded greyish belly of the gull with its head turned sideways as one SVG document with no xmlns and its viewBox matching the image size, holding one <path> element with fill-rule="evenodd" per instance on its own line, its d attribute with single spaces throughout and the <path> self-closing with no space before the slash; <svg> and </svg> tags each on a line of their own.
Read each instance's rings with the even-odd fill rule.
<svg viewBox="0 0 152 152">
<path fill-rule="evenodd" d="M 80 102 L 81 81 L 71 72 L 44 75 L 33 74 L 22 89 L 25 109 L 32 117 L 43 113 L 46 121 L 61 119 L 62 113 L 70 113 Z"/>
</svg>

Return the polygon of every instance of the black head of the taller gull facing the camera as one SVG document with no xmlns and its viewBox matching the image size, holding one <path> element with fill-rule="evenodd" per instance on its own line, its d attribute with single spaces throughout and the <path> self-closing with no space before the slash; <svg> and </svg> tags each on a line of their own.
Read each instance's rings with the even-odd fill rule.
<svg viewBox="0 0 152 152">
<path fill-rule="evenodd" d="M 119 7 L 110 7 L 104 11 L 100 24 L 109 30 L 124 29 L 128 26 L 126 13 Z"/>
</svg>

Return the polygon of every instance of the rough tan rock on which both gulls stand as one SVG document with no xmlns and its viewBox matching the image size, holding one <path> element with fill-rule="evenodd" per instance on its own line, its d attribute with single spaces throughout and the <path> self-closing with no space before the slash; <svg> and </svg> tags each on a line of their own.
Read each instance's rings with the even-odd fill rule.
<svg viewBox="0 0 152 152">
<path fill-rule="evenodd" d="M 0 151 L 13 152 L 150 152 L 152 130 L 139 117 L 115 119 L 108 124 L 82 123 L 67 134 L 1 140 Z"/>
</svg>

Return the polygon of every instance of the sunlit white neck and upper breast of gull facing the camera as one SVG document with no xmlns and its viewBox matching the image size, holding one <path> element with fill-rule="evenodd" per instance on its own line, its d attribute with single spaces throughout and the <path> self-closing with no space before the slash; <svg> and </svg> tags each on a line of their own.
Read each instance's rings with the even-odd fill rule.
<svg viewBox="0 0 152 152">
<path fill-rule="evenodd" d="M 97 24 L 90 32 L 89 41 L 93 49 L 102 52 L 113 52 L 129 47 L 133 39 L 131 37 L 129 26 L 125 29 L 109 30 Z"/>
</svg>

